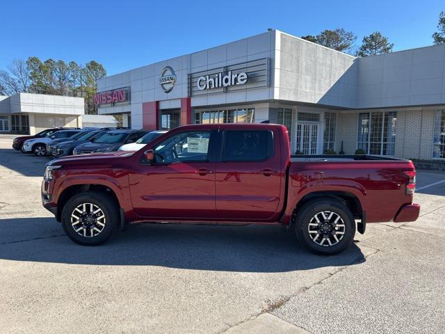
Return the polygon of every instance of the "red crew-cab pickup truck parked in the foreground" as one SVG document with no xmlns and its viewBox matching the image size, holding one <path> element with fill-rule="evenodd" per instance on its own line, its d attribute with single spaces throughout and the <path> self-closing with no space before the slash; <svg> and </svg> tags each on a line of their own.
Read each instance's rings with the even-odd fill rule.
<svg viewBox="0 0 445 334">
<path fill-rule="evenodd" d="M 366 223 L 415 221 L 415 182 L 412 161 L 291 156 L 282 125 L 186 125 L 137 152 L 51 161 L 42 202 L 82 245 L 140 222 L 262 224 L 329 255 Z"/>
</svg>

